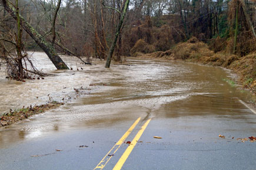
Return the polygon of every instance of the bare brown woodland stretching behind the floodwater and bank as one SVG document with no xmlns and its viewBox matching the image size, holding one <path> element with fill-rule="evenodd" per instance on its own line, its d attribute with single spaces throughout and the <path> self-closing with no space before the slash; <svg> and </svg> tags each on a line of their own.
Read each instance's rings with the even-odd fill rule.
<svg viewBox="0 0 256 170">
<path fill-rule="evenodd" d="M 44 75 L 24 67 L 25 60 L 31 62 L 26 50 L 44 50 L 57 69 L 68 69 L 58 53 L 105 60 L 126 2 L 1 0 L 0 65 L 11 68 L 9 76 L 19 80 L 29 73 Z M 116 61 L 138 52 L 165 52 L 192 37 L 215 53 L 244 57 L 255 52 L 255 0 L 128 2 L 114 48 Z"/>
</svg>

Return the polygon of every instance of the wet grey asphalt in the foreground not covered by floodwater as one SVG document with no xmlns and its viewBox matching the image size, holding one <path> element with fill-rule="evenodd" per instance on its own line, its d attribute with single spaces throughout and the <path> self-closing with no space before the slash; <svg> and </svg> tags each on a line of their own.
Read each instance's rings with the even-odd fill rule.
<svg viewBox="0 0 256 170">
<path fill-rule="evenodd" d="M 246 117 L 255 120 L 255 115 L 249 112 Z M 249 125 L 238 123 L 238 128 L 234 123 L 230 129 L 227 120 L 215 124 L 215 120 L 186 119 L 189 118 L 152 118 L 122 169 L 255 168 L 255 143 L 236 140 L 255 134 L 255 121 Z M 195 124 L 197 121 L 200 123 Z M 1 148 L 0 169 L 94 169 L 132 123 L 53 133 Z M 125 142 L 133 140 L 143 123 L 138 124 Z M 250 131 L 240 130 L 253 124 Z M 219 134 L 225 135 L 225 139 L 219 138 Z M 114 155 L 107 155 L 111 160 L 104 169 L 113 169 L 128 147 L 124 143 Z"/>
</svg>

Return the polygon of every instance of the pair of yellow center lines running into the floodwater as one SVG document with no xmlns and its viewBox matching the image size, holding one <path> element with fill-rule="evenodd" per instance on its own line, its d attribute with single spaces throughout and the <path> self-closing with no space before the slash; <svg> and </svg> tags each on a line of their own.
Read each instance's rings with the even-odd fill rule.
<svg viewBox="0 0 256 170">
<path fill-rule="evenodd" d="M 121 147 L 121 145 L 124 143 L 124 141 L 127 139 L 129 134 L 131 134 L 132 130 L 136 127 L 136 125 L 139 123 L 139 120 L 141 120 L 141 117 L 139 117 L 134 124 L 131 125 L 131 127 L 128 129 L 127 132 L 125 132 L 124 135 L 119 139 L 119 141 L 110 149 L 110 151 L 105 155 L 105 157 L 99 162 L 99 164 L 94 168 L 96 169 L 103 169 L 109 160 L 112 158 L 111 155 L 115 154 L 117 150 Z M 146 121 L 144 125 L 142 125 L 141 130 L 138 131 L 138 133 L 135 135 L 134 139 L 132 140 L 131 144 L 129 144 L 128 148 L 125 150 L 124 154 L 122 154 L 122 157 L 119 159 L 113 170 L 119 170 L 122 168 L 122 165 L 124 165 L 125 161 L 129 157 L 129 154 L 131 154 L 132 149 L 134 149 L 135 145 L 137 144 L 139 138 L 143 134 L 144 130 L 146 129 L 147 125 L 149 124 L 149 121 L 151 121 L 151 118 Z M 112 152 L 113 151 L 113 152 Z M 108 157 L 110 155 L 110 157 Z"/>
</svg>

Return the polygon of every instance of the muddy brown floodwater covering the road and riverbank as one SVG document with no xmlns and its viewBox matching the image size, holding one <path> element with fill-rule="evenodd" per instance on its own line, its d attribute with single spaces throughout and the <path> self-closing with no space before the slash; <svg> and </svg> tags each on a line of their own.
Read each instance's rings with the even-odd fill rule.
<svg viewBox="0 0 256 170">
<path fill-rule="evenodd" d="M 1 73 L 0 112 L 43 104 L 50 97 L 67 103 L 1 128 L 0 147 L 51 132 L 108 127 L 138 116 L 203 118 L 211 115 L 255 123 L 244 116 L 248 109 L 238 100 L 248 102 L 250 94 L 225 81 L 235 79 L 228 70 L 132 58 L 127 59 L 127 64 L 105 69 L 103 61 L 83 66 L 78 60 L 64 56 L 73 70 L 56 71 L 44 53 L 36 52 L 33 56 L 36 67 L 55 76 L 22 83 L 4 79 L 5 74 Z M 81 87 L 81 93 L 75 93 L 74 88 Z"/>
</svg>

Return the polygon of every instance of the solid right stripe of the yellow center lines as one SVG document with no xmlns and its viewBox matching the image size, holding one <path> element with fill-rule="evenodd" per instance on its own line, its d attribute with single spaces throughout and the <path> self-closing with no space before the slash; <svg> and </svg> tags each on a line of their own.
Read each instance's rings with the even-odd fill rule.
<svg viewBox="0 0 256 170">
<path fill-rule="evenodd" d="M 117 164 L 112 170 L 119 170 L 122 168 L 122 165 L 124 165 L 124 162 L 127 160 L 129 157 L 129 154 L 131 154 L 132 149 L 134 149 L 135 145 L 137 144 L 139 138 L 143 134 L 144 130 L 146 129 L 147 125 L 149 124 L 149 121 L 151 121 L 151 118 L 146 121 L 146 123 L 141 127 L 141 130 L 138 131 L 137 135 L 134 137 L 134 140 L 132 140 L 131 144 L 129 147 L 125 150 L 124 154 L 122 154 L 122 157 L 119 159 Z"/>
</svg>

